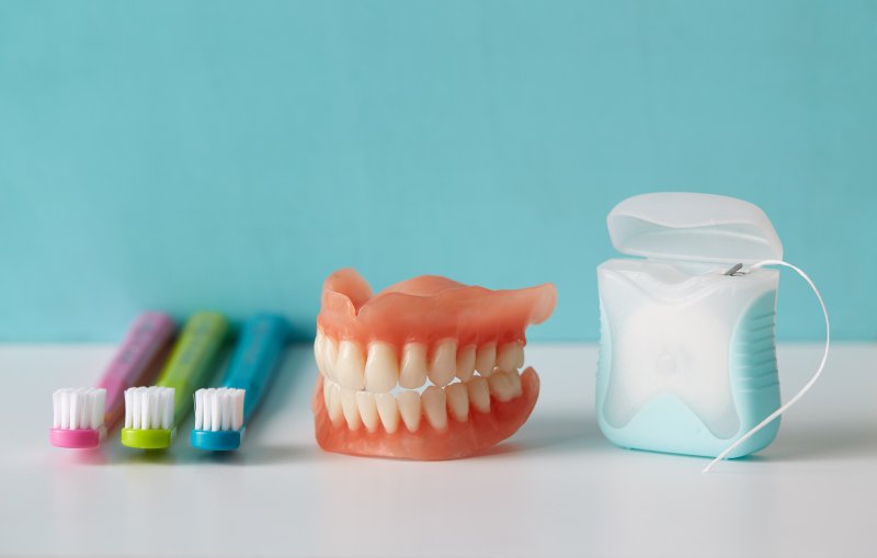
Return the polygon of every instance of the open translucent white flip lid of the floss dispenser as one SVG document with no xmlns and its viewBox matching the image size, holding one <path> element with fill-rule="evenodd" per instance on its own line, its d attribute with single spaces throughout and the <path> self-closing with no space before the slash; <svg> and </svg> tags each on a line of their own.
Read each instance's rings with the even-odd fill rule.
<svg viewBox="0 0 877 558">
<path fill-rule="evenodd" d="M 783 243 L 754 204 L 716 194 L 660 192 L 616 205 L 606 224 L 616 250 L 656 260 L 782 260 Z"/>
</svg>

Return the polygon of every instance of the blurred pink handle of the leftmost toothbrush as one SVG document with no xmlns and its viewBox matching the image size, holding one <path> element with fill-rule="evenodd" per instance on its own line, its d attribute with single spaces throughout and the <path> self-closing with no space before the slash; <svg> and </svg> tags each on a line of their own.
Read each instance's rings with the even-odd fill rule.
<svg viewBox="0 0 877 558">
<path fill-rule="evenodd" d="M 162 312 L 144 312 L 128 329 L 125 340 L 106 367 L 98 387 L 106 389 L 107 428 L 122 418 L 125 408 L 125 389 L 148 382 L 145 377 L 152 368 L 149 364 L 173 335 L 175 324 Z"/>
</svg>

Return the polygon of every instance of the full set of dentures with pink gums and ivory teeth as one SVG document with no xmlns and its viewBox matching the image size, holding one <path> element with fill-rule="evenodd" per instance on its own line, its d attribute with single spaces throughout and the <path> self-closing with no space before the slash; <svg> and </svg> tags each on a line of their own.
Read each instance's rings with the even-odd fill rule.
<svg viewBox="0 0 877 558">
<path fill-rule="evenodd" d="M 551 284 L 491 291 L 423 275 L 373 295 L 352 269 L 323 284 L 314 354 L 317 442 L 403 459 L 481 453 L 526 422 L 539 378 L 525 330 L 548 319 Z"/>
</svg>

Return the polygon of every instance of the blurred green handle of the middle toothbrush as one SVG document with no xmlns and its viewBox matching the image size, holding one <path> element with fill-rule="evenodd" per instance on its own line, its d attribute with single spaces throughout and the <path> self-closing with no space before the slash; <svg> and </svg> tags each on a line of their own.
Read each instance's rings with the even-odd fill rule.
<svg viewBox="0 0 877 558">
<path fill-rule="evenodd" d="M 209 379 L 213 361 L 228 332 L 228 322 L 216 312 L 197 312 L 186 320 L 180 339 L 158 385 L 175 390 L 173 401 L 174 422 L 180 424 L 192 408 L 195 389 Z"/>
</svg>

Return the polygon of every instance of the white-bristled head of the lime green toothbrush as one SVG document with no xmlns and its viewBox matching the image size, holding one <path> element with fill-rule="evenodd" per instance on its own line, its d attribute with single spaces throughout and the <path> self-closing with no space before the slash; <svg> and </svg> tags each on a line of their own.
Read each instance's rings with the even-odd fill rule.
<svg viewBox="0 0 877 558">
<path fill-rule="evenodd" d="M 173 436 L 171 387 L 133 387 L 125 390 L 125 428 L 122 444 L 139 449 L 163 449 Z"/>
</svg>

